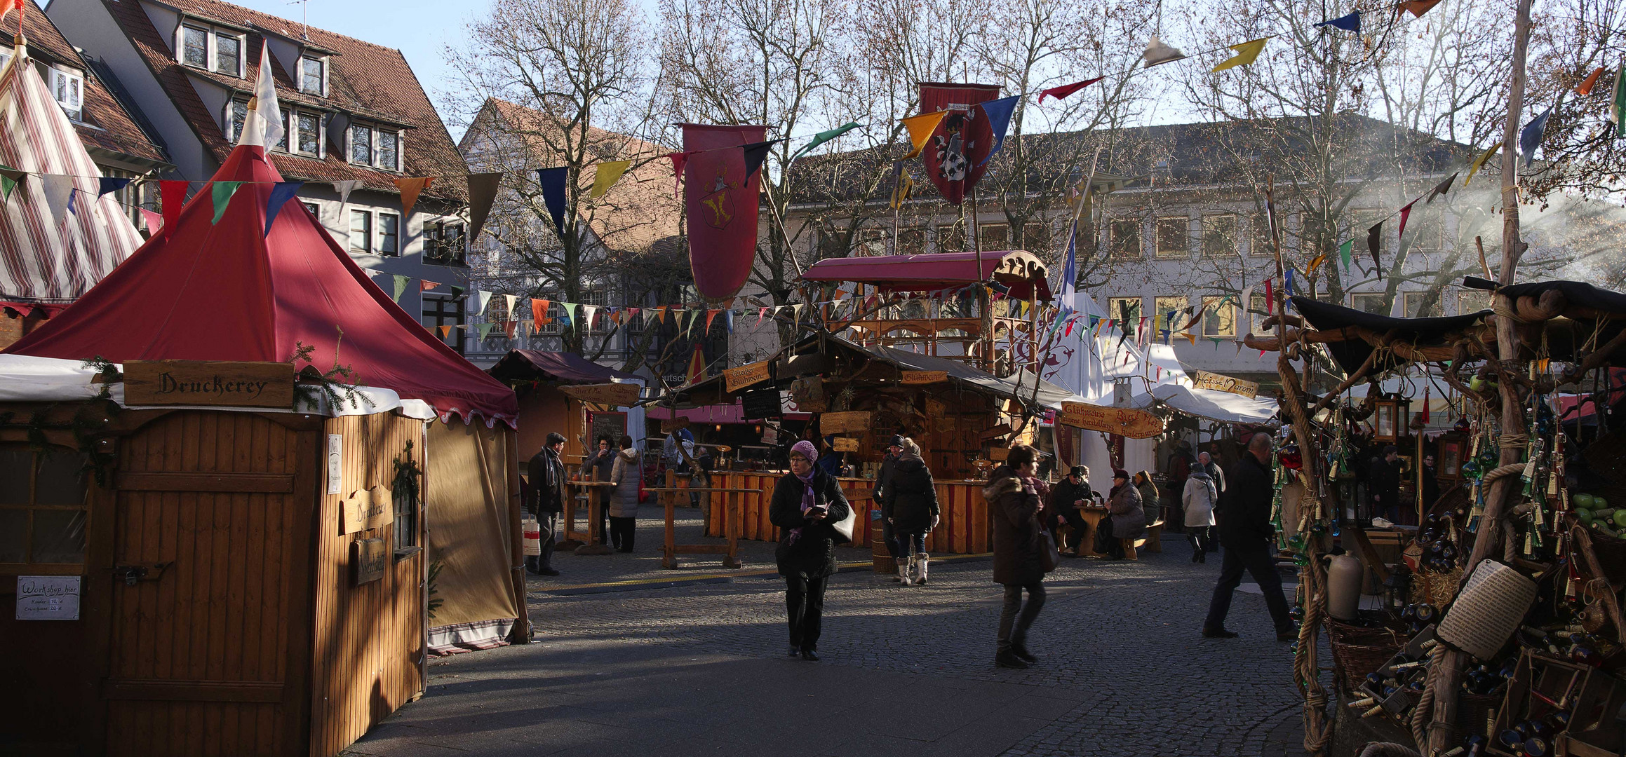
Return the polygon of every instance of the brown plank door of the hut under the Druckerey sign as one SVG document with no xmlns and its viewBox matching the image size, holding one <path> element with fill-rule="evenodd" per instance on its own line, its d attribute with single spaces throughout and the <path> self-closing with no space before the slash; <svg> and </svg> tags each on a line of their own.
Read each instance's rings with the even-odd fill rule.
<svg viewBox="0 0 1626 757">
<path fill-rule="evenodd" d="M 107 755 L 306 751 L 315 432 L 176 411 L 122 442 Z"/>
</svg>

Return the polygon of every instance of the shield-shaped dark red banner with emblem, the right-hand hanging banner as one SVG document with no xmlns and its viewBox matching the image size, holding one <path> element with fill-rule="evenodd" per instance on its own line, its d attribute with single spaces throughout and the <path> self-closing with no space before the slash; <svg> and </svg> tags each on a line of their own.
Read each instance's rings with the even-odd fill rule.
<svg viewBox="0 0 1626 757">
<path fill-rule="evenodd" d="M 998 84 L 920 84 L 920 112 L 948 110 L 932 132 L 920 159 L 937 192 L 953 205 L 966 200 L 989 169 L 984 159 L 993 149 L 993 127 L 980 107 L 971 107 L 1000 96 Z"/>
</svg>

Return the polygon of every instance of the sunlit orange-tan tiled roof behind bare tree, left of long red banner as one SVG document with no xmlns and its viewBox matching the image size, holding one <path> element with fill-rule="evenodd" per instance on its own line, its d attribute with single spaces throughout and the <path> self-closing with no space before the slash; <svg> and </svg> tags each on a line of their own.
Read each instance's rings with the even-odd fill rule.
<svg viewBox="0 0 1626 757">
<path fill-rule="evenodd" d="M 501 123 L 493 123 L 491 119 L 499 119 Z M 489 97 L 470 133 L 463 135 L 463 143 L 478 136 L 520 138 L 527 148 L 524 161 L 528 167 L 546 167 L 558 162 L 541 136 L 548 127 L 550 119 L 541 112 Z M 672 148 L 602 128 L 589 128 L 589 140 L 618 148 L 615 153 L 606 151 L 598 156 L 600 161 L 629 159 L 636 166 L 600 200 L 585 200 L 595 171 L 592 167 L 582 171 L 584 203 L 595 203 L 589 218 L 593 234 L 616 250 L 644 250 L 681 234 L 683 206 L 673 195 L 672 161 L 659 158 L 672 153 Z"/>
</svg>

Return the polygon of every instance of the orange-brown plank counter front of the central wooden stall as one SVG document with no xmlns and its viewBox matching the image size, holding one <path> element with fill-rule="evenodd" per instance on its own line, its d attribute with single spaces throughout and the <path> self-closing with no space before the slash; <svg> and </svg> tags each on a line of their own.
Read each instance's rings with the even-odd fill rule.
<svg viewBox="0 0 1626 757">
<path fill-rule="evenodd" d="M 784 473 L 740 473 L 720 471 L 712 474 L 712 486 L 724 489 L 753 489 L 756 494 L 740 495 L 741 539 L 779 541 L 779 530 L 767 520 L 767 502 L 774 494 L 774 484 Z M 847 502 L 859 512 L 854 528 L 854 546 L 870 546 L 870 510 L 880 510 L 880 502 L 870 500 L 875 481 L 867 478 L 844 478 L 841 491 Z M 937 481 L 937 504 L 943 512 L 941 521 L 925 538 L 927 552 L 938 554 L 982 554 L 993 551 L 990 533 L 989 505 L 982 499 L 982 481 Z M 706 536 L 722 536 L 722 504 L 711 505 Z M 880 538 L 880 521 L 875 521 L 875 538 Z"/>
</svg>

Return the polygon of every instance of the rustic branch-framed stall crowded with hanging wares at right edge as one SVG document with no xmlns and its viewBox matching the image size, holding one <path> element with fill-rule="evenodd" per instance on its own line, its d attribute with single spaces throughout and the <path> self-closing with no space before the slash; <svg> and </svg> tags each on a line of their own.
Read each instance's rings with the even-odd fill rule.
<svg viewBox="0 0 1626 757">
<path fill-rule="evenodd" d="M 1301 564 L 1306 744 L 1325 747 L 1341 729 L 1389 733 L 1426 754 L 1619 754 L 1626 510 L 1613 505 L 1626 502 L 1626 437 L 1611 427 L 1626 413 L 1613 369 L 1626 294 L 1514 284 L 1496 289 L 1494 310 L 1449 318 L 1291 304 L 1273 338 L 1249 344 L 1281 351 L 1291 417 L 1276 465 L 1283 492 L 1301 497 L 1278 513 L 1296 521 L 1280 546 Z M 1337 372 L 1301 372 L 1294 362 L 1311 351 Z M 1460 486 L 1434 502 L 1413 492 L 1421 521 L 1389 531 L 1397 551 L 1384 554 L 1343 504 L 1363 448 L 1406 442 L 1408 430 L 1423 448 L 1431 419 L 1406 403 L 1428 398 L 1385 390 L 1393 377 L 1449 387 L 1459 417 L 1431 443 Z M 1350 396 L 1361 382 L 1366 395 Z M 1320 556 L 1335 546 L 1348 554 L 1328 567 Z M 1312 673 L 1322 629 L 1340 705 L 1332 729 Z"/>
</svg>

